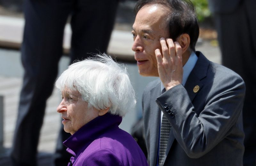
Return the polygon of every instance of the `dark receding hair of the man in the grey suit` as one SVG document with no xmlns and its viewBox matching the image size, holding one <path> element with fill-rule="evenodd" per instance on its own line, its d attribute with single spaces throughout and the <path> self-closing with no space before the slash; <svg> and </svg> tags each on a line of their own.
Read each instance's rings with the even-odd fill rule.
<svg viewBox="0 0 256 166">
<path fill-rule="evenodd" d="M 199 25 L 194 5 L 190 0 L 139 0 L 134 11 L 139 10 L 147 4 L 161 4 L 170 9 L 167 15 L 169 24 L 169 37 L 176 41 L 181 34 L 188 34 L 190 37 L 190 48 L 195 51 L 196 42 L 199 36 Z"/>
</svg>

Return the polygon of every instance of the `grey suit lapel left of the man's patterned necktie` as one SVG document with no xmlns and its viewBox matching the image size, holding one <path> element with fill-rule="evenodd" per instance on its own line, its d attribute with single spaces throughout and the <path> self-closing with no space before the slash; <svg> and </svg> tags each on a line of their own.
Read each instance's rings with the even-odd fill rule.
<svg viewBox="0 0 256 166">
<path fill-rule="evenodd" d="M 158 141 L 159 141 L 159 124 L 161 110 L 156 104 L 156 98 L 161 95 L 161 84 L 160 81 L 157 83 L 156 87 L 150 91 L 150 163 L 156 165 L 157 161 L 157 152 L 158 152 Z M 151 165 L 151 164 L 150 164 Z"/>
</svg>

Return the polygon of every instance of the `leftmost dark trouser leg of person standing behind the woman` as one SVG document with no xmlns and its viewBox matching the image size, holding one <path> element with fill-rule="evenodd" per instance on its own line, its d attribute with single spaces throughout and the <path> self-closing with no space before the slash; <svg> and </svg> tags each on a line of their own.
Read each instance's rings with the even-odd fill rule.
<svg viewBox="0 0 256 166">
<path fill-rule="evenodd" d="M 52 93 L 57 75 L 63 29 L 69 13 L 66 4 L 55 3 L 55 7 L 62 8 L 60 11 L 51 0 L 24 2 L 21 60 L 25 73 L 11 150 L 13 165 L 36 165 L 46 100 Z"/>
</svg>

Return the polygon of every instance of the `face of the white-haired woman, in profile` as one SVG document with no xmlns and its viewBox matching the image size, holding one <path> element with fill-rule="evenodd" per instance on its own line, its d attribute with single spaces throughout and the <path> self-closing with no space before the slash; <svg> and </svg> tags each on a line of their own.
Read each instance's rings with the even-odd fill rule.
<svg viewBox="0 0 256 166">
<path fill-rule="evenodd" d="M 88 108 L 88 103 L 83 101 L 81 94 L 78 91 L 65 89 L 61 92 L 62 101 L 57 112 L 61 113 L 61 118 L 64 125 L 64 130 L 73 135 L 78 129 L 90 122 L 97 116 L 99 111 Z"/>
</svg>

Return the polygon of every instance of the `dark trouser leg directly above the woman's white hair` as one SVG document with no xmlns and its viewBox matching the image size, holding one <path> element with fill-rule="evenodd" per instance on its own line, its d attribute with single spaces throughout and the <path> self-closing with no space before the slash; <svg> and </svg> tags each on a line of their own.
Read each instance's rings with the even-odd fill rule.
<svg viewBox="0 0 256 166">
<path fill-rule="evenodd" d="M 77 2 L 71 19 L 71 62 L 107 52 L 117 5 L 118 0 Z"/>
</svg>

